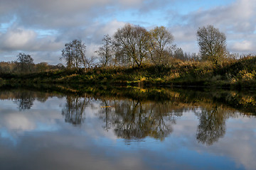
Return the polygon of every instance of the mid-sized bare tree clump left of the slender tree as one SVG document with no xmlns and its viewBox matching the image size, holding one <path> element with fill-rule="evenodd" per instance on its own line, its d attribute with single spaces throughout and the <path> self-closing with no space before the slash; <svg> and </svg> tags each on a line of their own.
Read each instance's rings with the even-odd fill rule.
<svg viewBox="0 0 256 170">
<path fill-rule="evenodd" d="M 68 69 L 78 69 L 82 64 L 86 68 L 86 46 L 81 40 L 73 40 L 65 44 L 60 60 L 65 60 Z"/>
</svg>

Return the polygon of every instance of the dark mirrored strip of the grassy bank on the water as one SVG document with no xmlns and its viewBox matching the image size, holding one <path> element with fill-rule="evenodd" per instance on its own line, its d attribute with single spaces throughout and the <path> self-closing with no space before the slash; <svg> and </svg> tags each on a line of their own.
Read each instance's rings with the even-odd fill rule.
<svg viewBox="0 0 256 170">
<path fill-rule="evenodd" d="M 24 93 L 18 93 L 23 91 Z M 246 115 L 256 113 L 256 94 L 254 91 L 230 91 L 228 89 L 186 88 L 186 87 L 137 87 L 137 86 L 61 86 L 58 84 L 33 84 L 33 85 L 4 85 L 0 86 L 0 99 L 6 98 L 12 92 L 15 96 L 26 98 L 26 91 L 33 91 L 38 98 L 47 96 L 78 96 L 102 99 L 125 99 L 132 101 L 149 102 L 157 101 L 166 103 L 170 101 L 173 107 L 206 106 L 213 108 L 233 108 Z M 42 99 L 43 100 L 43 99 Z M 214 105 L 213 105 L 214 103 Z"/>
</svg>

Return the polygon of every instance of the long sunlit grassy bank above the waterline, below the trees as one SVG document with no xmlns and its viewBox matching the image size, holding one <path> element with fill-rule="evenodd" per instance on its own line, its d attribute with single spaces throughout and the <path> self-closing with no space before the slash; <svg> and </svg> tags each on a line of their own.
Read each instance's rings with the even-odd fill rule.
<svg viewBox="0 0 256 170">
<path fill-rule="evenodd" d="M 0 74 L 1 84 L 105 84 L 133 86 L 218 86 L 256 88 L 256 57 L 229 60 L 215 66 L 210 62 L 181 62 L 169 67 L 94 68 L 31 74 Z"/>
</svg>

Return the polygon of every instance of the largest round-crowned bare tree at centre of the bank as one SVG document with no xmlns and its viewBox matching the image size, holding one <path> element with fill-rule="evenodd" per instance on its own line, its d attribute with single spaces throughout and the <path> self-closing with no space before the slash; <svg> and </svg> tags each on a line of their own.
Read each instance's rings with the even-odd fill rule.
<svg viewBox="0 0 256 170">
<path fill-rule="evenodd" d="M 123 62 L 140 67 L 149 55 L 149 33 L 141 26 L 127 24 L 114 33 L 114 45 Z"/>
</svg>

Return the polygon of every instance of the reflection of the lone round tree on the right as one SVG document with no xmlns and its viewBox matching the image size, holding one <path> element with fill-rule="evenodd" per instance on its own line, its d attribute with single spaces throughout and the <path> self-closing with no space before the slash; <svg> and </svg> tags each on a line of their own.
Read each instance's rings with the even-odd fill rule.
<svg viewBox="0 0 256 170">
<path fill-rule="evenodd" d="M 220 137 L 225 135 L 225 112 L 218 106 L 202 108 L 199 117 L 196 139 L 206 145 L 213 145 Z"/>
</svg>

